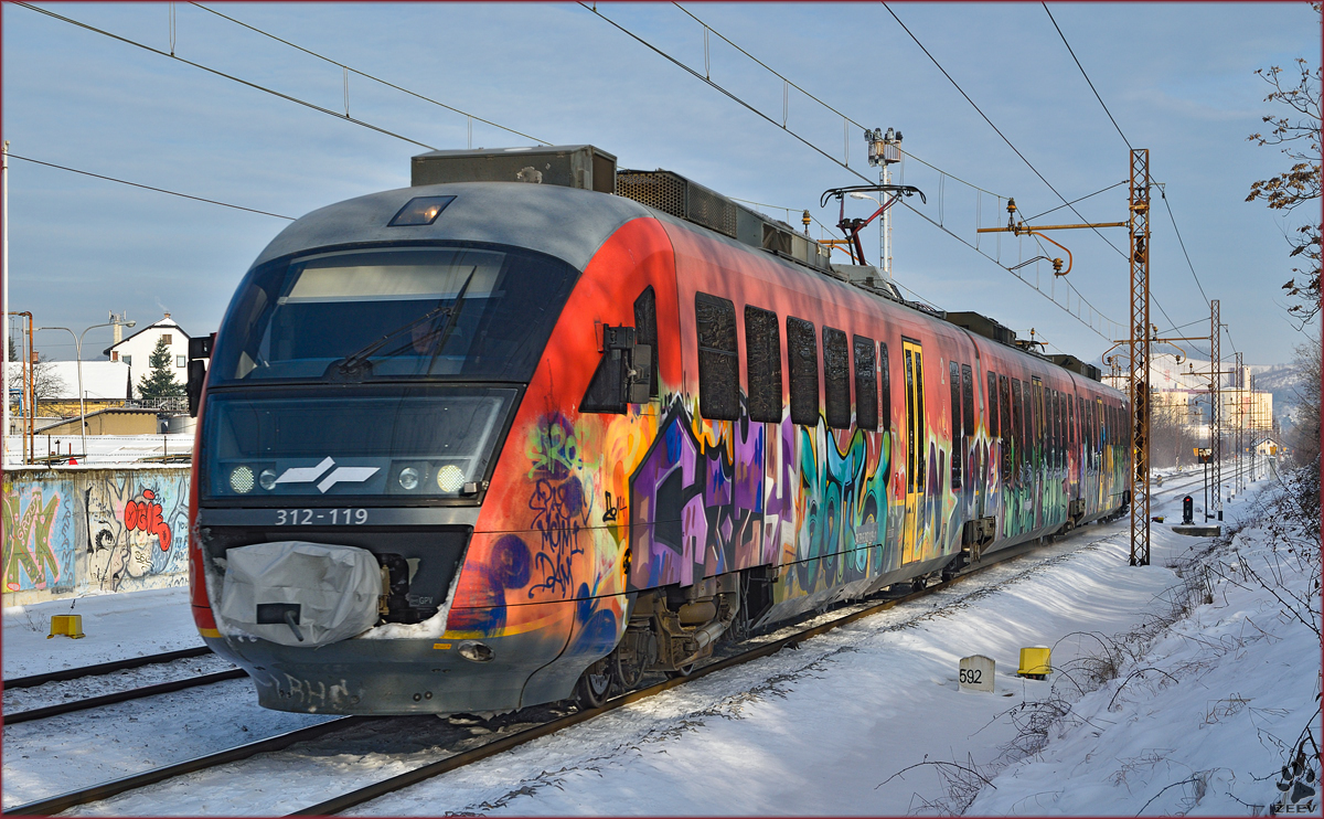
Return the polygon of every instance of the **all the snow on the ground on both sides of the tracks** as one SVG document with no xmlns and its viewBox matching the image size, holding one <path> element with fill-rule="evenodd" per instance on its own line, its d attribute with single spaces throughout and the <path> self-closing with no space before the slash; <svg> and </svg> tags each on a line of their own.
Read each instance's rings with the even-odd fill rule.
<svg viewBox="0 0 1324 819">
<path fill-rule="evenodd" d="M 970 815 L 1267 812 L 1280 796 L 1279 769 L 1291 761 L 1303 730 L 1313 726 L 1315 741 L 1320 736 L 1319 596 L 1309 588 L 1319 578 L 1319 535 L 1256 525 L 1217 549 L 1209 538 L 1176 535 L 1168 526 L 1180 521 L 1180 498 L 1196 494 L 1188 477 L 1169 477 L 1156 496 L 1153 514 L 1166 522 L 1153 525 L 1148 567 L 1128 566 L 1125 521 L 1088 526 L 919 604 L 696 680 L 351 812 L 859 815 L 967 806 Z M 1239 521 L 1254 514 L 1256 496 L 1275 488 L 1260 481 L 1229 502 L 1226 522 L 1242 526 Z M 1292 537 L 1300 546 L 1296 554 L 1286 551 Z M 1312 554 L 1313 563 L 1298 563 L 1301 554 Z M 1266 576 L 1271 566 L 1279 571 L 1279 596 L 1291 603 L 1286 592 L 1292 592 L 1304 600 L 1296 606 L 1301 619 L 1255 582 L 1253 574 Z M 1194 607 L 1182 616 L 1174 604 L 1189 599 L 1190 590 L 1197 590 Z M 118 611 L 127 623 L 138 608 L 126 602 Z M 168 648 L 197 643 L 187 599 L 156 599 L 143 608 L 158 616 L 140 632 L 126 627 L 120 633 L 111 626 L 120 615 L 107 614 L 107 641 L 142 653 L 162 651 L 163 641 Z M 11 612 L 7 676 L 19 673 L 11 672 L 12 620 L 26 616 Z M 169 644 L 181 624 L 187 641 Z M 86 620 L 83 628 L 93 633 Z M 44 631 L 36 639 L 42 640 L 37 651 L 45 648 Z M 1059 671 L 1050 680 L 1014 676 L 1018 649 L 1026 645 L 1054 647 Z M 1106 649 L 1120 673 L 1091 680 L 1091 656 Z M 993 694 L 959 690 L 959 659 L 973 653 L 997 661 Z M 1030 721 L 1051 709 L 1062 718 L 1030 730 Z M 148 761 L 144 751 L 162 755 L 155 747 L 120 747 L 146 746 L 136 737 L 147 734 L 130 725 L 132 714 L 99 710 L 107 713 L 90 716 L 99 722 L 85 717 L 66 728 L 48 726 L 69 737 L 49 751 L 44 741 L 13 733 L 24 725 L 7 729 L 5 804 L 12 804 L 16 773 L 32 787 L 40 777 L 32 771 L 60 770 L 69 761 L 75 767 L 109 765 L 109 777 L 111 769 L 140 767 Z M 183 724 L 209 726 L 209 742 L 229 739 L 221 734 L 252 725 L 261 718 L 258 710 L 250 689 L 236 688 L 189 702 Z M 155 736 L 180 732 L 179 716 L 148 718 L 154 722 L 146 730 Z M 11 754 L 30 755 L 30 747 L 49 757 L 32 767 Z M 385 778 L 428 755 L 425 747 L 402 750 L 399 738 L 359 738 L 344 747 L 286 751 L 229 773 L 197 774 L 89 812 L 283 812 L 326 799 L 351 779 L 361 785 L 367 773 Z M 1315 814 L 1319 804 L 1316 799 L 1311 807 Z"/>
</svg>

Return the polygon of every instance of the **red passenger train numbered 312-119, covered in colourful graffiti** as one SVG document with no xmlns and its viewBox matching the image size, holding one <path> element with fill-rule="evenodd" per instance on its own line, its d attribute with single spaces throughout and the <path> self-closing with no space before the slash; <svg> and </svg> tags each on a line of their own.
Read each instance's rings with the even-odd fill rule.
<svg viewBox="0 0 1324 819">
<path fill-rule="evenodd" d="M 499 712 L 1128 502 L 1125 398 L 593 146 L 438 151 L 195 339 L 193 616 L 263 706 Z"/>
</svg>

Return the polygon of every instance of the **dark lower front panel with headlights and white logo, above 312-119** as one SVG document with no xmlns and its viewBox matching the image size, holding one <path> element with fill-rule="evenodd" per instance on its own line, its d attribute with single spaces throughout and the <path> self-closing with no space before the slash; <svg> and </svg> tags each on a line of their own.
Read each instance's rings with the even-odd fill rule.
<svg viewBox="0 0 1324 819">
<path fill-rule="evenodd" d="M 514 387 L 367 384 L 217 391 L 207 402 L 204 497 L 462 498 L 477 492 Z"/>
</svg>

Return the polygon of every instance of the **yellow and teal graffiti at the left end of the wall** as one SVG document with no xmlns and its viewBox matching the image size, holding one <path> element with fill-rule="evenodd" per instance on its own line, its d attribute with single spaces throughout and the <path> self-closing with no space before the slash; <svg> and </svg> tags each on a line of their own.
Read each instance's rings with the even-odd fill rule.
<svg viewBox="0 0 1324 819">
<path fill-rule="evenodd" d="M 74 576 L 71 481 L 5 482 L 5 591 L 69 591 Z"/>
</svg>

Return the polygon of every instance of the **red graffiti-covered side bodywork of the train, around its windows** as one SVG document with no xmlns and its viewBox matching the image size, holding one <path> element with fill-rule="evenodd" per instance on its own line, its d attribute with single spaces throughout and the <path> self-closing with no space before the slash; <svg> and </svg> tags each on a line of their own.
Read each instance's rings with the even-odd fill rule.
<svg viewBox="0 0 1324 819">
<path fill-rule="evenodd" d="M 992 396 L 982 392 L 989 367 L 1066 394 L 1059 371 L 940 322 L 883 317 L 886 310 L 858 293 L 810 293 L 829 286 L 837 285 L 670 223 L 630 223 L 605 243 L 568 301 L 512 424 L 449 627 L 486 635 L 543 629 L 575 653 L 600 641 L 591 632 L 624 628 L 626 598 L 641 590 L 768 566 L 775 602 L 826 598 L 851 583 L 910 576 L 907 566 L 940 569 L 963 547 L 967 521 L 994 518 L 1000 537 L 1016 541 L 1061 526 L 1076 492 L 1099 493 L 1091 513 L 1111 501 L 1111 464 L 1072 474 L 1072 461 L 1043 441 L 1021 453 L 989 433 Z M 634 326 L 646 311 L 632 305 L 647 292 L 658 298 L 658 395 L 624 413 L 577 412 L 604 355 L 601 327 Z M 794 424 L 786 380 L 779 421 L 751 421 L 743 388 L 739 420 L 700 417 L 692 307 L 700 292 L 730 298 L 735 315 L 744 301 L 779 317 L 808 317 L 822 331 L 842 327 L 888 345 L 890 378 L 880 379 L 890 384 L 888 417 L 876 431 L 829 428 L 825 415 L 813 425 Z M 744 330 L 737 319 L 736 337 Z M 906 343 L 925 354 L 914 406 L 899 355 Z M 953 428 L 947 396 L 956 388 L 945 374 L 967 363 L 978 410 Z M 740 371 L 740 387 L 745 375 Z M 1035 417 L 1042 433 L 1042 399 Z M 1100 447 L 1098 459 L 1111 455 Z M 953 472 L 963 480 L 953 481 Z M 573 614 L 543 608 L 569 600 Z"/>
</svg>

